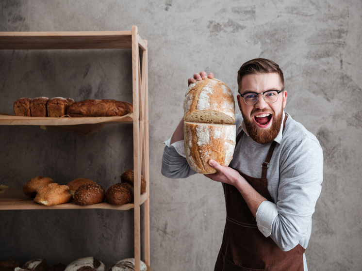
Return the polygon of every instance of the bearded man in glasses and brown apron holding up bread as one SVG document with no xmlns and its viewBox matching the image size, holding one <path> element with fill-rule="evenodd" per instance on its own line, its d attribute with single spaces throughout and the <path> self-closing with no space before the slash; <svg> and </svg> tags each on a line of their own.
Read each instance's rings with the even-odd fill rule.
<svg viewBox="0 0 362 271">
<path fill-rule="evenodd" d="M 194 74 L 188 83 L 214 75 Z M 284 112 L 287 91 L 278 64 L 253 59 L 238 71 L 236 146 L 229 166 L 214 160 L 223 183 L 226 224 L 214 271 L 307 271 L 305 249 L 321 192 L 323 152 L 317 138 Z M 181 120 L 165 142 L 162 174 L 196 174 L 187 164 Z"/>
</svg>

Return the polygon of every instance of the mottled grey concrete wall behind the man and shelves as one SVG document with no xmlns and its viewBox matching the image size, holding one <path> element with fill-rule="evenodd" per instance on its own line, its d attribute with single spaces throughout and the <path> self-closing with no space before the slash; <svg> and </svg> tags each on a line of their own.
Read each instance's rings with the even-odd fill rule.
<svg viewBox="0 0 362 271">
<path fill-rule="evenodd" d="M 187 78 L 213 72 L 236 93 L 236 72 L 265 57 L 284 71 L 285 111 L 320 140 L 324 182 L 306 255 L 311 271 L 362 266 L 361 0 L 1 0 L 0 31 L 111 31 L 137 25 L 149 48 L 152 270 L 213 270 L 225 223 L 219 183 L 161 175 Z M 129 52 L 2 51 L 0 111 L 29 96 L 132 99 Z M 0 127 L 0 183 L 36 175 L 93 178 L 107 188 L 132 167 L 132 127 L 90 137 Z M 132 211 L 0 212 L 0 258 L 64 264 L 93 255 L 107 267 L 133 256 Z"/>
</svg>

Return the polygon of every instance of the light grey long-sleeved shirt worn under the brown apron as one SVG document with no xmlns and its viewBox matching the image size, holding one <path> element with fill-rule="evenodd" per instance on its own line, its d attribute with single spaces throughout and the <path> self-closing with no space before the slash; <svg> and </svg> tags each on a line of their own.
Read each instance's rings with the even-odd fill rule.
<svg viewBox="0 0 362 271">
<path fill-rule="evenodd" d="M 236 116 L 237 134 L 242 129 L 242 120 L 241 115 Z M 281 132 L 282 129 L 280 136 Z M 284 251 L 298 243 L 307 248 L 312 215 L 323 180 L 322 148 L 317 138 L 290 115 L 278 142 L 267 172 L 272 202 L 264 201 L 258 207 L 257 225 L 264 236 L 270 236 Z M 270 144 L 256 143 L 244 133 L 235 147 L 230 167 L 260 178 L 261 164 Z M 162 174 L 170 178 L 185 178 L 195 172 L 174 147 L 166 146 Z"/>
</svg>

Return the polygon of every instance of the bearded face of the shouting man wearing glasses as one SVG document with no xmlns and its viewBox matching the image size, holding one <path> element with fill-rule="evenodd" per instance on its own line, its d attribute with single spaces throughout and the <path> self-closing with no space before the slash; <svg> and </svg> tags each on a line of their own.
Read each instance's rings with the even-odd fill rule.
<svg viewBox="0 0 362 271">
<path fill-rule="evenodd" d="M 277 73 L 248 74 L 243 76 L 241 80 L 239 93 L 262 93 L 267 90 L 281 90 L 282 88 Z M 263 99 L 263 95 L 259 95 L 258 101 L 254 105 L 247 105 L 243 97 L 239 96 L 238 104 L 247 127 L 247 133 L 254 141 L 266 144 L 277 137 L 287 95 L 286 91 L 281 92 L 275 103 L 267 103 Z"/>
</svg>

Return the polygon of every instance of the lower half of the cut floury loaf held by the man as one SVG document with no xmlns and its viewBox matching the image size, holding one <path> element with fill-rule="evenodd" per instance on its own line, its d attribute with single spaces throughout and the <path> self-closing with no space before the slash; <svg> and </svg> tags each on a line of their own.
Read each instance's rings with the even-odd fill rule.
<svg viewBox="0 0 362 271">
<path fill-rule="evenodd" d="M 186 159 L 194 171 L 216 173 L 209 165 L 210 159 L 223 166 L 230 164 L 235 148 L 235 125 L 184 122 L 183 132 Z"/>
</svg>

